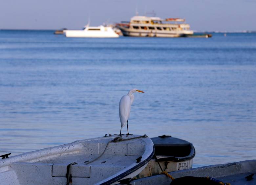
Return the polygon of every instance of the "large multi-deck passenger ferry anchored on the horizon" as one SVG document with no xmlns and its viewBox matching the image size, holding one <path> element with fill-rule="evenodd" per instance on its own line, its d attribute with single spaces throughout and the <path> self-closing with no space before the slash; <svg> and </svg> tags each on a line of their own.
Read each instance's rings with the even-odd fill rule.
<svg viewBox="0 0 256 185">
<path fill-rule="evenodd" d="M 193 35 L 185 19 L 134 16 L 130 22 L 118 23 L 124 36 L 134 37 L 182 37 Z"/>
</svg>

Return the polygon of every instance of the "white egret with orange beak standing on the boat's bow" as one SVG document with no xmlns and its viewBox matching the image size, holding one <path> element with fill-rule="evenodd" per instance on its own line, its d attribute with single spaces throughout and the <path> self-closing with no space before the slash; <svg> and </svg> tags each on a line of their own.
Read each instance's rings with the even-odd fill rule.
<svg viewBox="0 0 256 185">
<path fill-rule="evenodd" d="M 121 136 L 121 137 L 122 137 L 121 130 L 122 130 L 122 127 L 125 126 L 125 123 L 127 124 L 127 136 L 130 135 L 129 130 L 128 130 L 128 119 L 129 119 L 130 112 L 131 112 L 131 105 L 134 101 L 133 93 L 135 93 L 135 92 L 144 93 L 141 90 L 132 89 L 128 92 L 127 95 L 124 95 L 119 102 L 119 117 L 120 117 L 120 122 L 121 122 L 121 129 L 120 129 L 119 136 Z"/>
</svg>

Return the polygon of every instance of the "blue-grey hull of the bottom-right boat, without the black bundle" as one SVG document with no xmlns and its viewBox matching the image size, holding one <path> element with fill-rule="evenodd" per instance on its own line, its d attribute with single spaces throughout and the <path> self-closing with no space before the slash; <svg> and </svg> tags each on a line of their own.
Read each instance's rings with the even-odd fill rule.
<svg viewBox="0 0 256 185">
<path fill-rule="evenodd" d="M 247 176 L 256 173 L 256 160 L 246 160 L 234 163 L 219 164 L 192 168 L 168 173 L 174 179 L 184 176 L 213 177 L 224 183 L 232 185 L 255 184 L 256 179 L 246 181 Z M 149 176 L 129 182 L 132 185 L 165 185 L 170 184 L 172 179 L 165 175 Z M 193 184 L 192 182 L 190 184 Z"/>
</svg>

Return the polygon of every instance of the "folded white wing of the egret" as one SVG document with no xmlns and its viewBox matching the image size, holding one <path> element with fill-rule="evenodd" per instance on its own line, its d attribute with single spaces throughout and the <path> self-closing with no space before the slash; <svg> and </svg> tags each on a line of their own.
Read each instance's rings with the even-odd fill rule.
<svg viewBox="0 0 256 185">
<path fill-rule="evenodd" d="M 121 125 L 124 126 L 131 112 L 131 99 L 128 95 L 121 98 L 119 102 L 119 117 Z"/>
</svg>

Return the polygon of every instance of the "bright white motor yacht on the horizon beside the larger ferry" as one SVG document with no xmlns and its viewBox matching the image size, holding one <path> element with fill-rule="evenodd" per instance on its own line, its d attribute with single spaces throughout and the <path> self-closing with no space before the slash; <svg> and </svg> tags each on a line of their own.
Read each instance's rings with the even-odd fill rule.
<svg viewBox="0 0 256 185">
<path fill-rule="evenodd" d="M 64 30 L 66 37 L 92 37 L 92 38 L 117 38 L 119 35 L 115 33 L 112 27 L 98 26 L 90 27 L 86 26 L 83 30 Z"/>
</svg>

